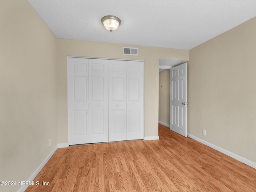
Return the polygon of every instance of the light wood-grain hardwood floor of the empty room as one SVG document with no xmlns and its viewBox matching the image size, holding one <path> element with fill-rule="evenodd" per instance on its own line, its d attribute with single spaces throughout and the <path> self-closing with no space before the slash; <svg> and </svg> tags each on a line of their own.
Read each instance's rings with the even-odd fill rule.
<svg viewBox="0 0 256 192">
<path fill-rule="evenodd" d="M 256 192 L 256 170 L 159 124 L 160 140 L 58 149 L 26 192 Z"/>
</svg>

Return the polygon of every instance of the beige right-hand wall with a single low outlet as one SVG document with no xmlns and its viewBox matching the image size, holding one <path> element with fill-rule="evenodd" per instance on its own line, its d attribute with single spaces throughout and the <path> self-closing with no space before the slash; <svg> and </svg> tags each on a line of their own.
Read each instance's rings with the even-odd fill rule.
<svg viewBox="0 0 256 192">
<path fill-rule="evenodd" d="M 255 34 L 252 18 L 190 50 L 188 64 L 188 133 L 253 162 Z"/>
</svg>

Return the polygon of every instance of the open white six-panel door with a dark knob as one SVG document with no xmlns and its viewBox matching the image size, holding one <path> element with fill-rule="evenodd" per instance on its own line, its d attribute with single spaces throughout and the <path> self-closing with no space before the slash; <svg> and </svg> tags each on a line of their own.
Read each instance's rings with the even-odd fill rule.
<svg viewBox="0 0 256 192">
<path fill-rule="evenodd" d="M 187 136 L 187 63 L 170 69 L 170 130 Z"/>
</svg>

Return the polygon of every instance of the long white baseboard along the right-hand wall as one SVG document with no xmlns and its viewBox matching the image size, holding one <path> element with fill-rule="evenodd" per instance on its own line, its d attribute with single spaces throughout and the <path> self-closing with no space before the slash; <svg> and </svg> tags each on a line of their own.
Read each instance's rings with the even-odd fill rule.
<svg viewBox="0 0 256 192">
<path fill-rule="evenodd" d="M 238 160 L 238 161 L 240 161 L 240 162 L 242 162 L 242 163 L 244 163 L 244 164 L 246 164 L 246 165 L 256 169 L 256 163 L 253 162 L 253 161 L 250 161 L 250 160 L 248 160 L 248 159 L 246 159 L 244 157 L 241 157 L 241 156 L 239 156 L 237 154 L 234 154 L 234 153 L 232 153 L 232 152 L 230 152 L 230 151 L 228 151 L 226 149 L 223 149 L 223 148 L 218 147 L 218 146 L 216 146 L 216 145 L 214 145 L 212 143 L 209 143 L 209 142 L 207 142 L 205 140 L 202 140 L 202 139 L 200 139 L 200 138 L 198 138 L 198 137 L 196 137 L 194 135 L 188 134 L 188 137 L 190 137 L 190 138 L 192 138 L 192 139 L 194 139 L 194 140 L 196 140 L 196 141 L 198 141 L 198 142 L 200 142 L 202 144 L 205 144 L 205 145 L 207 145 L 207 146 L 209 146 L 209 147 L 211 147 L 211 148 L 213 148 L 213 149 L 215 149 L 215 150 L 217 150 L 219 152 L 222 152 L 222 153 L 224 153 L 224 154 L 226 154 L 226 155 L 228 155 L 228 156 L 230 156 L 230 157 L 232 157 L 232 158 L 234 158 L 234 159 L 236 159 L 236 160 Z"/>
</svg>

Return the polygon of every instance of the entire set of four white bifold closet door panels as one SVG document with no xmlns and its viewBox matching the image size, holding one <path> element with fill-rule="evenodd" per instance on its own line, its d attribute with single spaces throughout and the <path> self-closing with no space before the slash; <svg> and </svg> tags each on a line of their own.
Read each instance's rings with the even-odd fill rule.
<svg viewBox="0 0 256 192">
<path fill-rule="evenodd" d="M 144 138 L 144 62 L 68 57 L 68 143 Z"/>
</svg>

